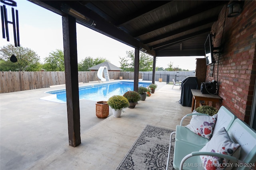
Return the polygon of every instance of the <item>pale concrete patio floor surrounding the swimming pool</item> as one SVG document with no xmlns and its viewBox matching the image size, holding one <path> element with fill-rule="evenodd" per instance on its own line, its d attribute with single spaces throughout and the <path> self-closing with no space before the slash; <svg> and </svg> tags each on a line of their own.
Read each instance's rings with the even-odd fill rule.
<svg viewBox="0 0 256 170">
<path fill-rule="evenodd" d="M 99 119 L 96 102 L 80 100 L 82 143 L 75 148 L 68 145 L 66 103 L 40 100 L 49 95 L 44 92 L 65 87 L 0 94 L 0 169 L 114 170 L 146 124 L 175 130 L 191 113 L 178 103 L 178 86 L 156 84 L 152 96 L 120 118 L 112 117 L 110 108 L 109 116 Z"/>
</svg>

